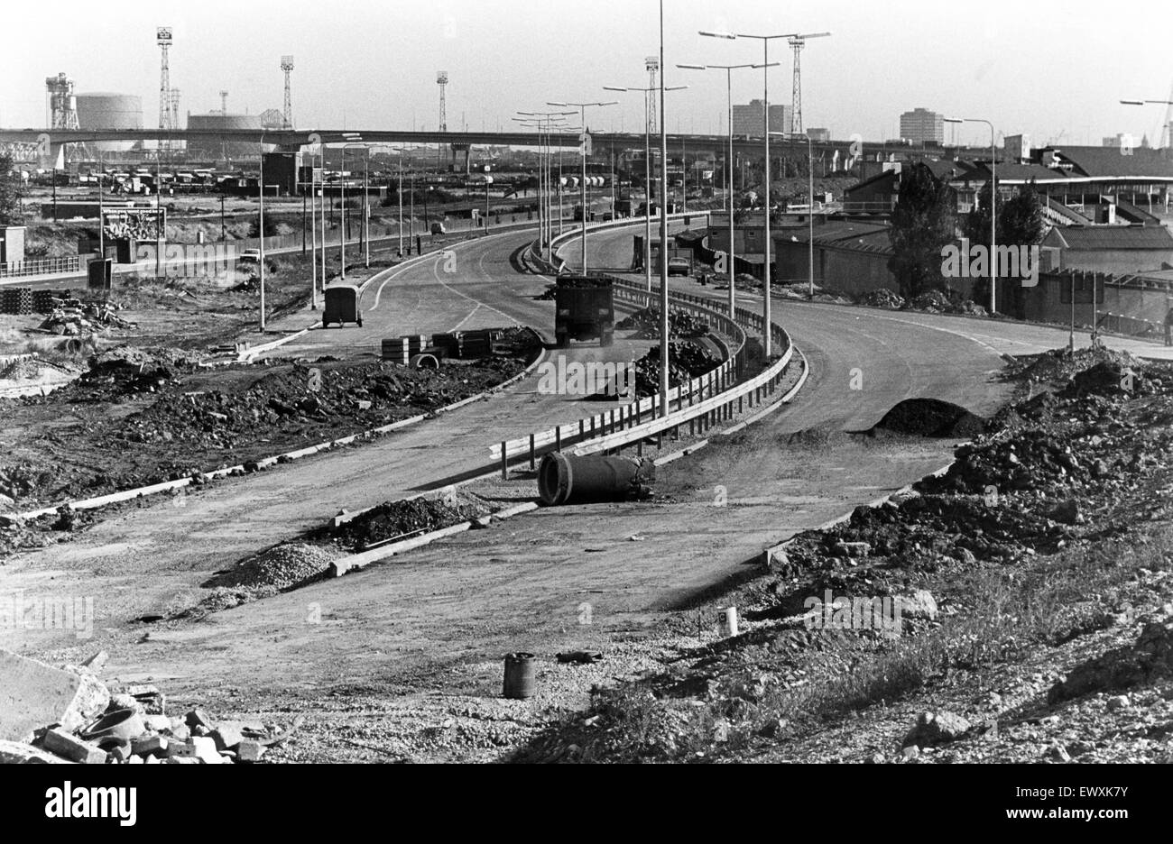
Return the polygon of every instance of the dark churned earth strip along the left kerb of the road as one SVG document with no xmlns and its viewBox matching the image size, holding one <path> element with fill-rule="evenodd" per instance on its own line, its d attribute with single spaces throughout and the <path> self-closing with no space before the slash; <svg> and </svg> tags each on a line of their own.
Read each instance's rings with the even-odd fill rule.
<svg viewBox="0 0 1173 844">
<path fill-rule="evenodd" d="M 122 347 L 48 396 L 0 400 L 0 510 L 248 464 L 435 410 L 524 365 L 491 358 L 421 370 L 324 359 L 205 369 L 181 349 Z"/>
</svg>

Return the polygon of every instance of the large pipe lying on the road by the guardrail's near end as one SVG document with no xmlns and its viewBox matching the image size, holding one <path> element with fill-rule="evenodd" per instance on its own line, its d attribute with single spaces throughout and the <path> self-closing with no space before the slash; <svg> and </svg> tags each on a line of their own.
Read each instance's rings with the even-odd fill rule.
<svg viewBox="0 0 1173 844">
<path fill-rule="evenodd" d="M 542 457 L 537 490 L 545 506 L 646 498 L 656 482 L 647 457 L 576 457 L 554 451 Z"/>
</svg>

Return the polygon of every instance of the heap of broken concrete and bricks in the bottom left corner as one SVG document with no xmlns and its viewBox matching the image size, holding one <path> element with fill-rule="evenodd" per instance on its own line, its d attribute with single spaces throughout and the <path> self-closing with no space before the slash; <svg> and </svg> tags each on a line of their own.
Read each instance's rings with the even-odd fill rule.
<svg viewBox="0 0 1173 844">
<path fill-rule="evenodd" d="M 259 762 L 292 729 L 215 721 L 201 709 L 169 715 L 156 686 L 108 686 L 101 652 L 52 666 L 0 651 L 0 763 L 228 764 Z"/>
</svg>

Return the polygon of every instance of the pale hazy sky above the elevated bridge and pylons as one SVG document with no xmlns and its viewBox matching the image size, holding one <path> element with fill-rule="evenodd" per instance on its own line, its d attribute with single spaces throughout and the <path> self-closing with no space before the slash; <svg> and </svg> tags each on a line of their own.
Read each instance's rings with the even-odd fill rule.
<svg viewBox="0 0 1173 844">
<path fill-rule="evenodd" d="M 701 38 L 698 29 L 832 32 L 802 53 L 804 118 L 835 138 L 897 135 L 917 106 L 992 120 L 1001 131 L 1046 141 L 1099 143 L 1148 134 L 1155 145 L 1165 107 L 1124 98 L 1171 97 L 1173 2 L 936 0 L 815 2 L 665 0 L 669 131 L 725 130 L 724 73 L 678 70 L 677 62 L 760 61 L 760 41 Z M 438 69 L 448 70 L 448 128 L 508 127 L 517 110 L 548 100 L 619 98 L 588 116 L 592 129 L 638 131 L 639 95 L 604 84 L 646 84 L 644 57 L 658 52 L 657 0 L 56 0 L 52 23 L 5 34 L 0 125 L 45 123 L 45 77 L 65 72 L 79 93 L 143 100 L 144 125 L 158 120 L 155 26 L 175 30 L 171 84 L 181 110 L 280 108 L 282 54 L 293 54 L 298 128 L 434 129 Z M 792 54 L 773 42 L 771 101 L 791 101 Z M 739 72 L 734 101 L 761 95 L 761 72 Z M 949 129 L 947 128 L 947 132 Z M 984 127 L 958 139 L 988 143 Z M 947 138 L 949 135 L 947 134 Z"/>
</svg>

